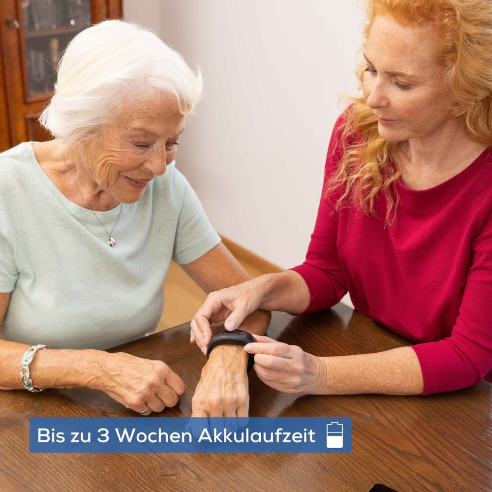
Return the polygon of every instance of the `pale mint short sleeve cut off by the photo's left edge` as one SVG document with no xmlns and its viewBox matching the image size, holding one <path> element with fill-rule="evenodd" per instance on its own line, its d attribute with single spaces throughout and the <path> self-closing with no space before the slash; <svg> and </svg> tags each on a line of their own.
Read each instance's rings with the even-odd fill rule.
<svg viewBox="0 0 492 492">
<path fill-rule="evenodd" d="M 0 292 L 12 292 L 18 277 L 12 222 L 0 189 Z"/>
</svg>

